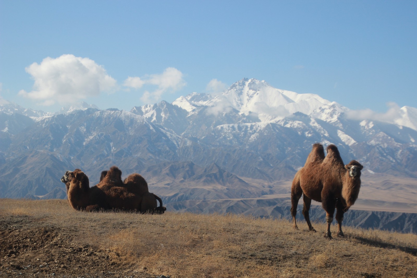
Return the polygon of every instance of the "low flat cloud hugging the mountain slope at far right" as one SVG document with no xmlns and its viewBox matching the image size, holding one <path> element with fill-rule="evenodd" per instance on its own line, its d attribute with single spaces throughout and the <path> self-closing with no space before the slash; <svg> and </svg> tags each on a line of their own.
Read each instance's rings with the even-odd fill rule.
<svg viewBox="0 0 417 278">
<path fill-rule="evenodd" d="M 374 121 L 385 121 L 389 123 L 395 123 L 395 120 L 402 117 L 402 111 L 398 104 L 394 102 L 387 103 L 388 110 L 385 113 L 378 113 L 371 109 L 362 110 L 350 110 L 346 112 L 346 116 L 349 119 L 356 120 L 374 120 Z"/>
</svg>

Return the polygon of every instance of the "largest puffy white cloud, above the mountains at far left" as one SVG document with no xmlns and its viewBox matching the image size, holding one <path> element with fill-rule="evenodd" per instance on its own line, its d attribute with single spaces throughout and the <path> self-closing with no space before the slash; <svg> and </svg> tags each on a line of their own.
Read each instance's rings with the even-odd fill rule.
<svg viewBox="0 0 417 278">
<path fill-rule="evenodd" d="M 65 54 L 45 58 L 25 68 L 34 79 L 33 91 L 19 91 L 19 95 L 39 101 L 43 105 L 76 103 L 80 99 L 111 92 L 116 80 L 89 58 Z"/>
</svg>

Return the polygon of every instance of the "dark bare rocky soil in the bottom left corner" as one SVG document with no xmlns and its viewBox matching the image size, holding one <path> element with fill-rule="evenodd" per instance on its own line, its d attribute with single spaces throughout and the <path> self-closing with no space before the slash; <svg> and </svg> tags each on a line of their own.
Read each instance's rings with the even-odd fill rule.
<svg viewBox="0 0 417 278">
<path fill-rule="evenodd" d="M 0 216 L 0 277 L 156 278 L 133 270 L 120 254 L 75 245 L 71 231 L 42 227 L 28 217 Z"/>
</svg>

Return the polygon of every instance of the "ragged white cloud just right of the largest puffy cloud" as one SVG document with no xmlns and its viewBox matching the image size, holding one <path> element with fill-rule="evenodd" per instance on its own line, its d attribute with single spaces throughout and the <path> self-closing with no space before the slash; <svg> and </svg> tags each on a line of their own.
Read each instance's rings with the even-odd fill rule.
<svg viewBox="0 0 417 278">
<path fill-rule="evenodd" d="M 165 93 L 175 92 L 183 88 L 186 82 L 183 73 L 176 68 L 166 68 L 161 74 L 150 74 L 143 77 L 128 77 L 124 86 L 139 89 L 144 85 L 156 86 L 153 91 L 145 91 L 141 100 L 145 103 L 152 103 L 161 100 Z"/>
</svg>

